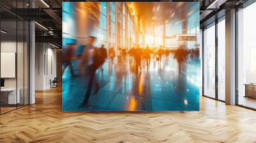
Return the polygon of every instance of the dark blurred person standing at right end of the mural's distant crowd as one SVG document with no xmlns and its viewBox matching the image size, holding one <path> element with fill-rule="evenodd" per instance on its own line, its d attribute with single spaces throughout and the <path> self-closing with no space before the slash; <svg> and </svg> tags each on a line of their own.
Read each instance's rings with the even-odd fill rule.
<svg viewBox="0 0 256 143">
<path fill-rule="evenodd" d="M 177 60 L 179 66 L 179 74 L 181 73 L 182 64 L 184 63 L 184 61 L 186 61 L 188 54 L 185 48 L 185 45 L 180 45 L 180 47 L 174 53 L 174 58 Z"/>
</svg>

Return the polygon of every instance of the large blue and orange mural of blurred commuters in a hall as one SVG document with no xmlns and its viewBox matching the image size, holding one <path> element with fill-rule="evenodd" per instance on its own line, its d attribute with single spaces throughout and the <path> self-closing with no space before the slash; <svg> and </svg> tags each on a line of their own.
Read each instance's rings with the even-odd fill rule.
<svg viewBox="0 0 256 143">
<path fill-rule="evenodd" d="M 63 3 L 63 110 L 199 110 L 199 3 Z"/>
</svg>

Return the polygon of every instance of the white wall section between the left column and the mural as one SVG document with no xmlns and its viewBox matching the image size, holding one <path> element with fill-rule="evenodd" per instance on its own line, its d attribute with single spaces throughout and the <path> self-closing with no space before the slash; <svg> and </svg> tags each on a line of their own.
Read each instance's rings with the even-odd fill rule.
<svg viewBox="0 0 256 143">
<path fill-rule="evenodd" d="M 36 43 L 35 47 L 35 90 L 49 89 L 50 80 L 57 75 L 56 49 L 49 43 Z"/>
</svg>

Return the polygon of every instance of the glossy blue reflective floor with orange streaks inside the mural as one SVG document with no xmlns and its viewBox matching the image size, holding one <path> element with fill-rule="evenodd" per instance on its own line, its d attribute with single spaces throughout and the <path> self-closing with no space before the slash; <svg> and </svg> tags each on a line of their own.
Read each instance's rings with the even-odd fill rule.
<svg viewBox="0 0 256 143">
<path fill-rule="evenodd" d="M 77 61 L 73 61 L 75 73 Z M 172 56 L 161 62 L 141 61 L 141 72 L 134 70 L 132 57 L 107 60 L 103 71 L 97 70 L 99 91 L 93 89 L 90 106 L 81 106 L 86 93 L 88 77 L 70 77 L 67 68 L 63 73 L 63 110 L 94 111 L 165 111 L 199 110 L 200 60 L 188 59 L 179 73 Z"/>
</svg>

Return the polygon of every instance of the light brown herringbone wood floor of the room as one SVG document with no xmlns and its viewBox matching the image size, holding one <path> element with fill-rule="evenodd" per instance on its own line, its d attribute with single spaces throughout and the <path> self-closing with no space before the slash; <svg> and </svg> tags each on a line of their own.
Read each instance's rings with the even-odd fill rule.
<svg viewBox="0 0 256 143">
<path fill-rule="evenodd" d="M 0 142 L 256 142 L 256 112 L 201 98 L 200 112 L 62 112 L 61 89 L 0 116 Z"/>
</svg>

